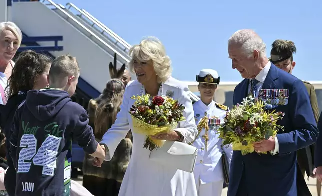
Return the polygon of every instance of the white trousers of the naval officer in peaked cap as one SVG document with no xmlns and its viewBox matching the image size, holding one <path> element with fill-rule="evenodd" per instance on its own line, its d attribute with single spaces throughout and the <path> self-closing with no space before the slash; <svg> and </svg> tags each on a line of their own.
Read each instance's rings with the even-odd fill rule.
<svg viewBox="0 0 322 196">
<path fill-rule="evenodd" d="M 196 185 L 198 196 L 221 196 L 222 194 L 223 180 L 201 184 L 199 179 Z"/>
</svg>

